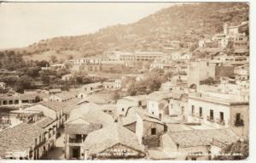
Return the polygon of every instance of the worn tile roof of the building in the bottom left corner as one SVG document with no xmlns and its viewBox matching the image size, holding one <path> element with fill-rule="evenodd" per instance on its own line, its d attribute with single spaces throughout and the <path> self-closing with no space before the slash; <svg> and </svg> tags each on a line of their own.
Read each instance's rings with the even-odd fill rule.
<svg viewBox="0 0 256 163">
<path fill-rule="evenodd" d="M 24 151 L 32 148 L 35 138 L 44 133 L 44 129 L 33 124 L 21 123 L 0 132 L 0 155 L 6 152 Z"/>
</svg>

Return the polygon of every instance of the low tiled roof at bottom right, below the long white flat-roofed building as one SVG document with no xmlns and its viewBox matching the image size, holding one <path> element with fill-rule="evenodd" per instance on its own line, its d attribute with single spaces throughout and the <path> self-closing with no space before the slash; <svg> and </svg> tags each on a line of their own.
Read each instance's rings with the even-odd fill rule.
<svg viewBox="0 0 256 163">
<path fill-rule="evenodd" d="M 187 130 L 181 132 L 167 132 L 166 134 L 177 143 L 180 148 L 205 146 L 212 143 L 212 138 L 224 143 L 236 142 L 239 137 L 230 129 Z"/>
</svg>

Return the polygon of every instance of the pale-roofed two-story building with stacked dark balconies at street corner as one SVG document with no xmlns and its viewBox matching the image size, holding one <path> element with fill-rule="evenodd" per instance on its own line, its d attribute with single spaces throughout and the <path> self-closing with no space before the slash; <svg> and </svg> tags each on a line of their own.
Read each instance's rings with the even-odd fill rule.
<svg viewBox="0 0 256 163">
<path fill-rule="evenodd" d="M 81 146 L 88 134 L 112 123 L 112 116 L 97 104 L 81 104 L 72 110 L 65 123 L 65 158 L 83 159 Z"/>
</svg>

